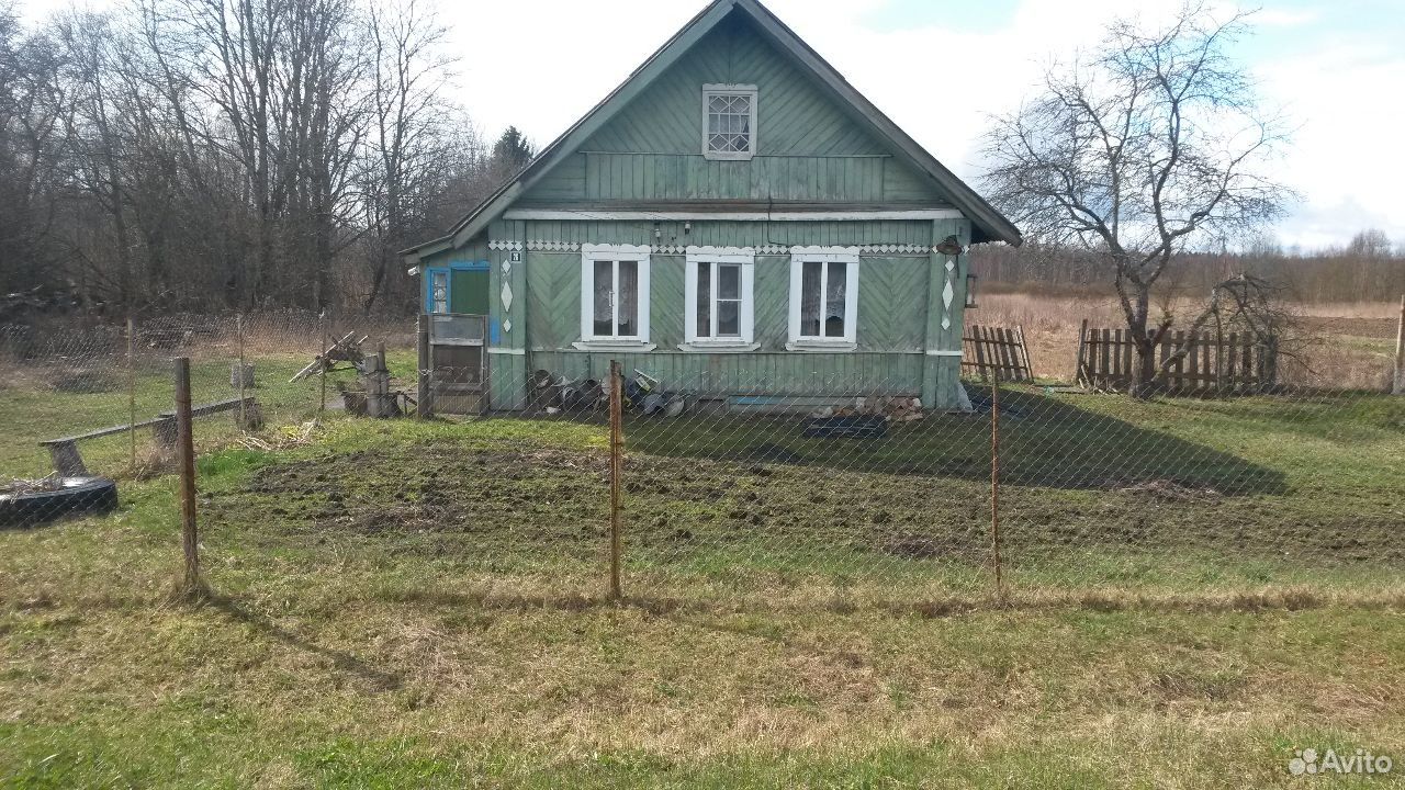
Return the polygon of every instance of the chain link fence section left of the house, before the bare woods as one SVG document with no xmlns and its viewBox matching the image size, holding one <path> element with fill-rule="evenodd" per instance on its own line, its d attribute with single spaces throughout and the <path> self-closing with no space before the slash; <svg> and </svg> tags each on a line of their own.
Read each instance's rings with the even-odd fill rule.
<svg viewBox="0 0 1405 790">
<path fill-rule="evenodd" d="M 358 354 L 316 364 L 341 337 Z M 305 437 L 346 408 L 360 354 L 384 347 L 413 380 L 413 342 L 398 322 L 294 311 L 0 325 L 0 522 L 111 510 L 114 482 L 174 472 L 177 358 L 190 360 L 195 451 L 208 454 Z"/>
</svg>

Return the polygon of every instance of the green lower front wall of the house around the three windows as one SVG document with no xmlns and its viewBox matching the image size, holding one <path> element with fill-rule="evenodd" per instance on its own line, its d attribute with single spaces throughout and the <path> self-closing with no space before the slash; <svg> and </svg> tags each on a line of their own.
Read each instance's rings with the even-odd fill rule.
<svg viewBox="0 0 1405 790">
<path fill-rule="evenodd" d="M 790 254 L 759 254 L 754 281 L 753 353 L 694 353 L 684 342 L 683 254 L 651 254 L 649 353 L 582 351 L 580 243 L 651 245 L 670 249 L 712 246 L 884 246 L 930 249 L 955 233 L 969 236 L 967 221 L 903 222 L 535 222 L 500 221 L 490 228 L 492 266 L 490 360 L 492 405 L 523 408 L 527 377 L 547 370 L 568 378 L 600 378 L 611 358 L 627 370 L 642 370 L 673 389 L 695 395 L 835 396 L 920 395 L 926 403 L 957 403 L 960 360 L 932 351 L 961 347 L 961 305 L 965 261 L 950 274 L 950 312 L 941 301 L 946 257 L 934 253 L 874 252 L 860 257 L 857 350 L 846 353 L 787 351 Z M 551 247 L 551 249 L 542 249 Z M 520 260 L 513 261 L 513 254 Z M 503 263 L 510 266 L 504 271 Z M 511 299 L 502 299 L 503 284 Z M 950 328 L 940 326 L 941 316 Z"/>
</svg>

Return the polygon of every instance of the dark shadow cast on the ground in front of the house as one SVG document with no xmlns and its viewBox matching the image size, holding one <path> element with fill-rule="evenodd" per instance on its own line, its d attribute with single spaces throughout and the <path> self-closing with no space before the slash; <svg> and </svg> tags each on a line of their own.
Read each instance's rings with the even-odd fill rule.
<svg viewBox="0 0 1405 790">
<path fill-rule="evenodd" d="M 989 388 L 968 385 L 978 409 Z M 1180 419 L 1168 415 L 1168 419 Z M 632 451 L 844 471 L 991 477 L 989 408 L 891 422 L 881 437 L 805 437 L 805 415 L 625 417 Z M 1286 493 L 1284 474 L 1221 450 L 1031 392 L 1000 392 L 1000 481 L 1062 489 L 1161 485 L 1227 495 Z"/>
</svg>

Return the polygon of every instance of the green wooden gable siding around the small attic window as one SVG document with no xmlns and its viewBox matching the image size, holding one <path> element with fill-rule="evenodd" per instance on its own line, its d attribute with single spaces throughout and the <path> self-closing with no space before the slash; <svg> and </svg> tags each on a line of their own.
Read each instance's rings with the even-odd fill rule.
<svg viewBox="0 0 1405 790">
<path fill-rule="evenodd" d="M 749 162 L 702 156 L 702 86 L 754 84 L 757 150 Z M 774 200 L 946 204 L 932 180 L 795 69 L 750 25 L 724 24 L 649 86 L 579 152 L 518 200 Z"/>
</svg>

